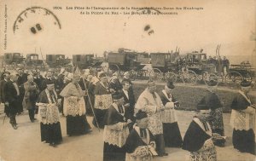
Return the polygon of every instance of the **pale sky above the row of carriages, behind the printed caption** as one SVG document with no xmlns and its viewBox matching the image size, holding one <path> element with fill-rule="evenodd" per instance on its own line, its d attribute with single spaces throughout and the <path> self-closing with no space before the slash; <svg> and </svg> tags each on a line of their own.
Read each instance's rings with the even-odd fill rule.
<svg viewBox="0 0 256 161">
<path fill-rule="evenodd" d="M 252 55 L 255 41 L 255 0 L 214 1 L 32 1 L 1 0 L 1 55 L 20 52 L 40 54 L 97 54 L 119 48 L 146 52 L 167 52 L 180 48 L 181 53 L 204 49 L 215 55 L 219 43 L 221 55 Z M 7 5 L 7 49 L 3 49 L 4 6 Z M 25 9 L 39 6 L 52 11 L 61 22 L 61 30 L 52 17 L 31 15 L 14 34 L 13 25 Z M 53 9 L 61 6 L 61 10 Z M 82 15 L 81 10 L 66 7 L 201 7 L 203 10 L 177 11 L 177 15 Z M 84 10 L 83 10 L 84 11 Z M 176 12 L 176 11 L 175 11 Z M 31 26 L 40 23 L 41 32 L 32 34 Z M 154 33 L 143 31 L 150 25 Z M 44 57 L 45 58 L 45 57 Z"/>
</svg>

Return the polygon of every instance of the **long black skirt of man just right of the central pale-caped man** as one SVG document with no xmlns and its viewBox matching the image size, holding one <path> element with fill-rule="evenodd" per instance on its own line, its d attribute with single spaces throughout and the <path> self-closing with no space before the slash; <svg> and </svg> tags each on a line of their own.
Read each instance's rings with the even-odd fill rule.
<svg viewBox="0 0 256 161">
<path fill-rule="evenodd" d="M 182 147 L 183 138 L 177 122 L 163 123 L 164 140 L 166 147 Z"/>
</svg>

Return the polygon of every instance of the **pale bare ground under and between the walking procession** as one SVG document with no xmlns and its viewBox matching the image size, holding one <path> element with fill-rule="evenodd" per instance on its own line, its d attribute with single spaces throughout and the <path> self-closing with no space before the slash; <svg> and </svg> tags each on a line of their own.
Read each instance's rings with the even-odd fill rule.
<svg viewBox="0 0 256 161">
<path fill-rule="evenodd" d="M 188 128 L 195 112 L 177 111 L 178 124 L 182 135 Z M 91 123 L 92 118 L 88 118 Z M 230 114 L 224 113 L 225 135 L 228 136 L 226 147 L 217 147 L 218 160 L 255 160 L 255 156 L 237 152 L 231 142 L 232 130 L 229 125 Z M 0 115 L 0 160 L 5 161 L 69 161 L 69 160 L 102 160 L 102 130 L 93 128 L 89 135 L 71 136 L 66 134 L 66 119 L 61 117 L 63 143 L 58 147 L 49 147 L 40 141 L 39 123 L 31 123 L 27 112 L 17 117 L 19 128 L 12 129 L 9 119 L 3 123 Z M 154 160 L 186 160 L 188 153 L 179 148 L 166 148 L 168 157 L 154 158 Z"/>
</svg>

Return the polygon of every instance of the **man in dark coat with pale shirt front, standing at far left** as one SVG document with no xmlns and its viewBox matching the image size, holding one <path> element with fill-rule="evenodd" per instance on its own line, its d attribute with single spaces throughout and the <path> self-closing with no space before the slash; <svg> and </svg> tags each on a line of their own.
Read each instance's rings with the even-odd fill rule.
<svg viewBox="0 0 256 161">
<path fill-rule="evenodd" d="M 17 129 L 16 114 L 18 112 L 18 107 L 21 105 L 20 99 L 20 89 L 16 81 L 18 80 L 18 75 L 16 72 L 10 74 L 10 81 L 7 82 L 3 87 L 4 93 L 4 104 L 9 107 L 10 121 L 9 123 L 14 129 Z"/>
</svg>

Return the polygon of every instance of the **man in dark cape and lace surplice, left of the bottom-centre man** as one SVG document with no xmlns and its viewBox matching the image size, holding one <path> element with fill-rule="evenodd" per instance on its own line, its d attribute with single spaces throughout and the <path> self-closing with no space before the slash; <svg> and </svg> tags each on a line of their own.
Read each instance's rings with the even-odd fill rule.
<svg viewBox="0 0 256 161">
<path fill-rule="evenodd" d="M 109 106 L 103 123 L 103 161 L 125 160 L 125 141 L 129 135 L 128 123 L 125 118 L 124 97 L 113 94 L 113 104 Z"/>
</svg>

